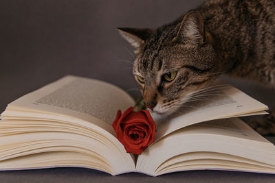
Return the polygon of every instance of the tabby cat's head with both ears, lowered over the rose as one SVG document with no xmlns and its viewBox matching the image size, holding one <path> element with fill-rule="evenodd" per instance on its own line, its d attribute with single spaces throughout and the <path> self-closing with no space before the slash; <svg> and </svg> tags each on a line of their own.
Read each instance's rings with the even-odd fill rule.
<svg viewBox="0 0 275 183">
<path fill-rule="evenodd" d="M 188 100 L 188 94 L 217 77 L 212 36 L 197 11 L 157 29 L 118 30 L 136 49 L 133 75 L 144 105 L 154 112 L 177 110 Z"/>
</svg>

